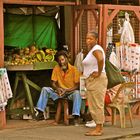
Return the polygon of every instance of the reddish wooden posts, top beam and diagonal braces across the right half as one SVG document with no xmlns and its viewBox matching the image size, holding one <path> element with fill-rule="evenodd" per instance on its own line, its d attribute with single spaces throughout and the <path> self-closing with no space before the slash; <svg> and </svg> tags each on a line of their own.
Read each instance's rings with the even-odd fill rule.
<svg viewBox="0 0 140 140">
<path fill-rule="evenodd" d="M 109 5 L 109 4 L 97 4 L 97 5 L 78 5 L 75 6 L 75 18 L 74 18 L 74 34 L 75 34 L 75 53 L 78 53 L 79 41 L 79 31 L 78 26 L 80 24 L 81 18 L 86 11 L 90 11 L 98 24 L 99 40 L 98 43 L 106 50 L 107 41 L 107 28 L 112 22 L 114 17 L 119 13 L 119 11 L 132 11 L 135 13 L 137 19 L 140 21 L 140 7 L 139 6 L 125 6 L 125 5 Z M 111 13 L 110 13 L 111 11 Z M 94 27 L 95 29 L 95 27 Z M 87 29 L 88 32 L 88 29 Z M 140 33 L 139 33 L 140 34 Z"/>
</svg>

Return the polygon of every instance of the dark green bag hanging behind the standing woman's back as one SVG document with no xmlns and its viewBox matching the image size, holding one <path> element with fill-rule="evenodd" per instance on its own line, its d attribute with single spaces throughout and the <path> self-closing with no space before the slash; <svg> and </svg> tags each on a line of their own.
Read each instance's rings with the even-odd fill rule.
<svg viewBox="0 0 140 140">
<path fill-rule="evenodd" d="M 106 59 L 105 61 L 105 70 L 108 79 L 107 89 L 125 82 L 120 70 L 116 66 L 114 66 L 108 59 Z"/>
</svg>

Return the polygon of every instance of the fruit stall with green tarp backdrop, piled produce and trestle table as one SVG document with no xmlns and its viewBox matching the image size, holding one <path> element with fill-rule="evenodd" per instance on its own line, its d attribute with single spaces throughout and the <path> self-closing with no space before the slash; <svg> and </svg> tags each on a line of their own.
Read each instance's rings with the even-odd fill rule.
<svg viewBox="0 0 140 140">
<path fill-rule="evenodd" d="M 39 15 L 34 11 L 24 15 L 17 12 L 19 8 L 13 8 L 17 12 L 13 14 L 12 8 L 8 7 L 8 12 L 4 14 L 4 65 L 8 71 L 15 73 L 14 97 L 8 107 L 8 113 L 13 110 L 19 81 L 22 81 L 21 88 L 24 87 L 27 105 L 31 114 L 34 115 L 33 96 L 29 85 L 38 91 L 41 88 L 35 84 L 36 81 L 29 80 L 28 74 L 34 73 L 34 71 L 53 69 L 55 66 L 58 24 L 53 16 Z M 56 14 L 58 9 L 55 8 L 55 10 L 52 12 Z"/>
</svg>

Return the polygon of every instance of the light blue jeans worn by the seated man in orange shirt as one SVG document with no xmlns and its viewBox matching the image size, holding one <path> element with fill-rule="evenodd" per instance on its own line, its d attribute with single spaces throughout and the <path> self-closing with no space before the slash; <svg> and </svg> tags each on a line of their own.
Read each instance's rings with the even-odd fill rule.
<svg viewBox="0 0 140 140">
<path fill-rule="evenodd" d="M 36 108 L 44 112 L 49 98 L 55 101 L 62 97 L 59 97 L 51 87 L 43 87 Z M 73 101 L 72 115 L 80 116 L 82 102 L 80 91 L 79 90 L 73 91 L 73 93 L 70 94 L 67 98 Z"/>
</svg>

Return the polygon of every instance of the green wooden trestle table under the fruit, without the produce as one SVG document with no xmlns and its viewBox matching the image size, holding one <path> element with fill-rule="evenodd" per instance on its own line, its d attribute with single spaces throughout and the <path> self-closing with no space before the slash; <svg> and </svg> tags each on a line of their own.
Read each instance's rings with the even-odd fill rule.
<svg viewBox="0 0 140 140">
<path fill-rule="evenodd" d="M 16 90 L 18 87 L 19 80 L 23 82 L 23 86 L 25 88 L 27 101 L 30 107 L 30 112 L 34 116 L 34 104 L 31 96 L 31 91 L 29 86 L 33 87 L 37 91 L 41 91 L 41 88 L 35 84 L 33 81 L 29 80 L 27 77 L 27 72 L 29 71 L 39 71 L 39 70 L 47 70 L 47 69 L 53 69 L 54 66 L 57 64 L 57 62 L 37 62 L 35 64 L 28 64 L 28 65 L 9 65 L 6 66 L 6 69 L 8 71 L 15 71 L 16 77 L 14 82 L 14 88 L 13 88 L 13 98 L 10 103 L 10 109 L 12 109 L 12 106 L 14 104 L 15 97 L 17 95 Z"/>
</svg>

